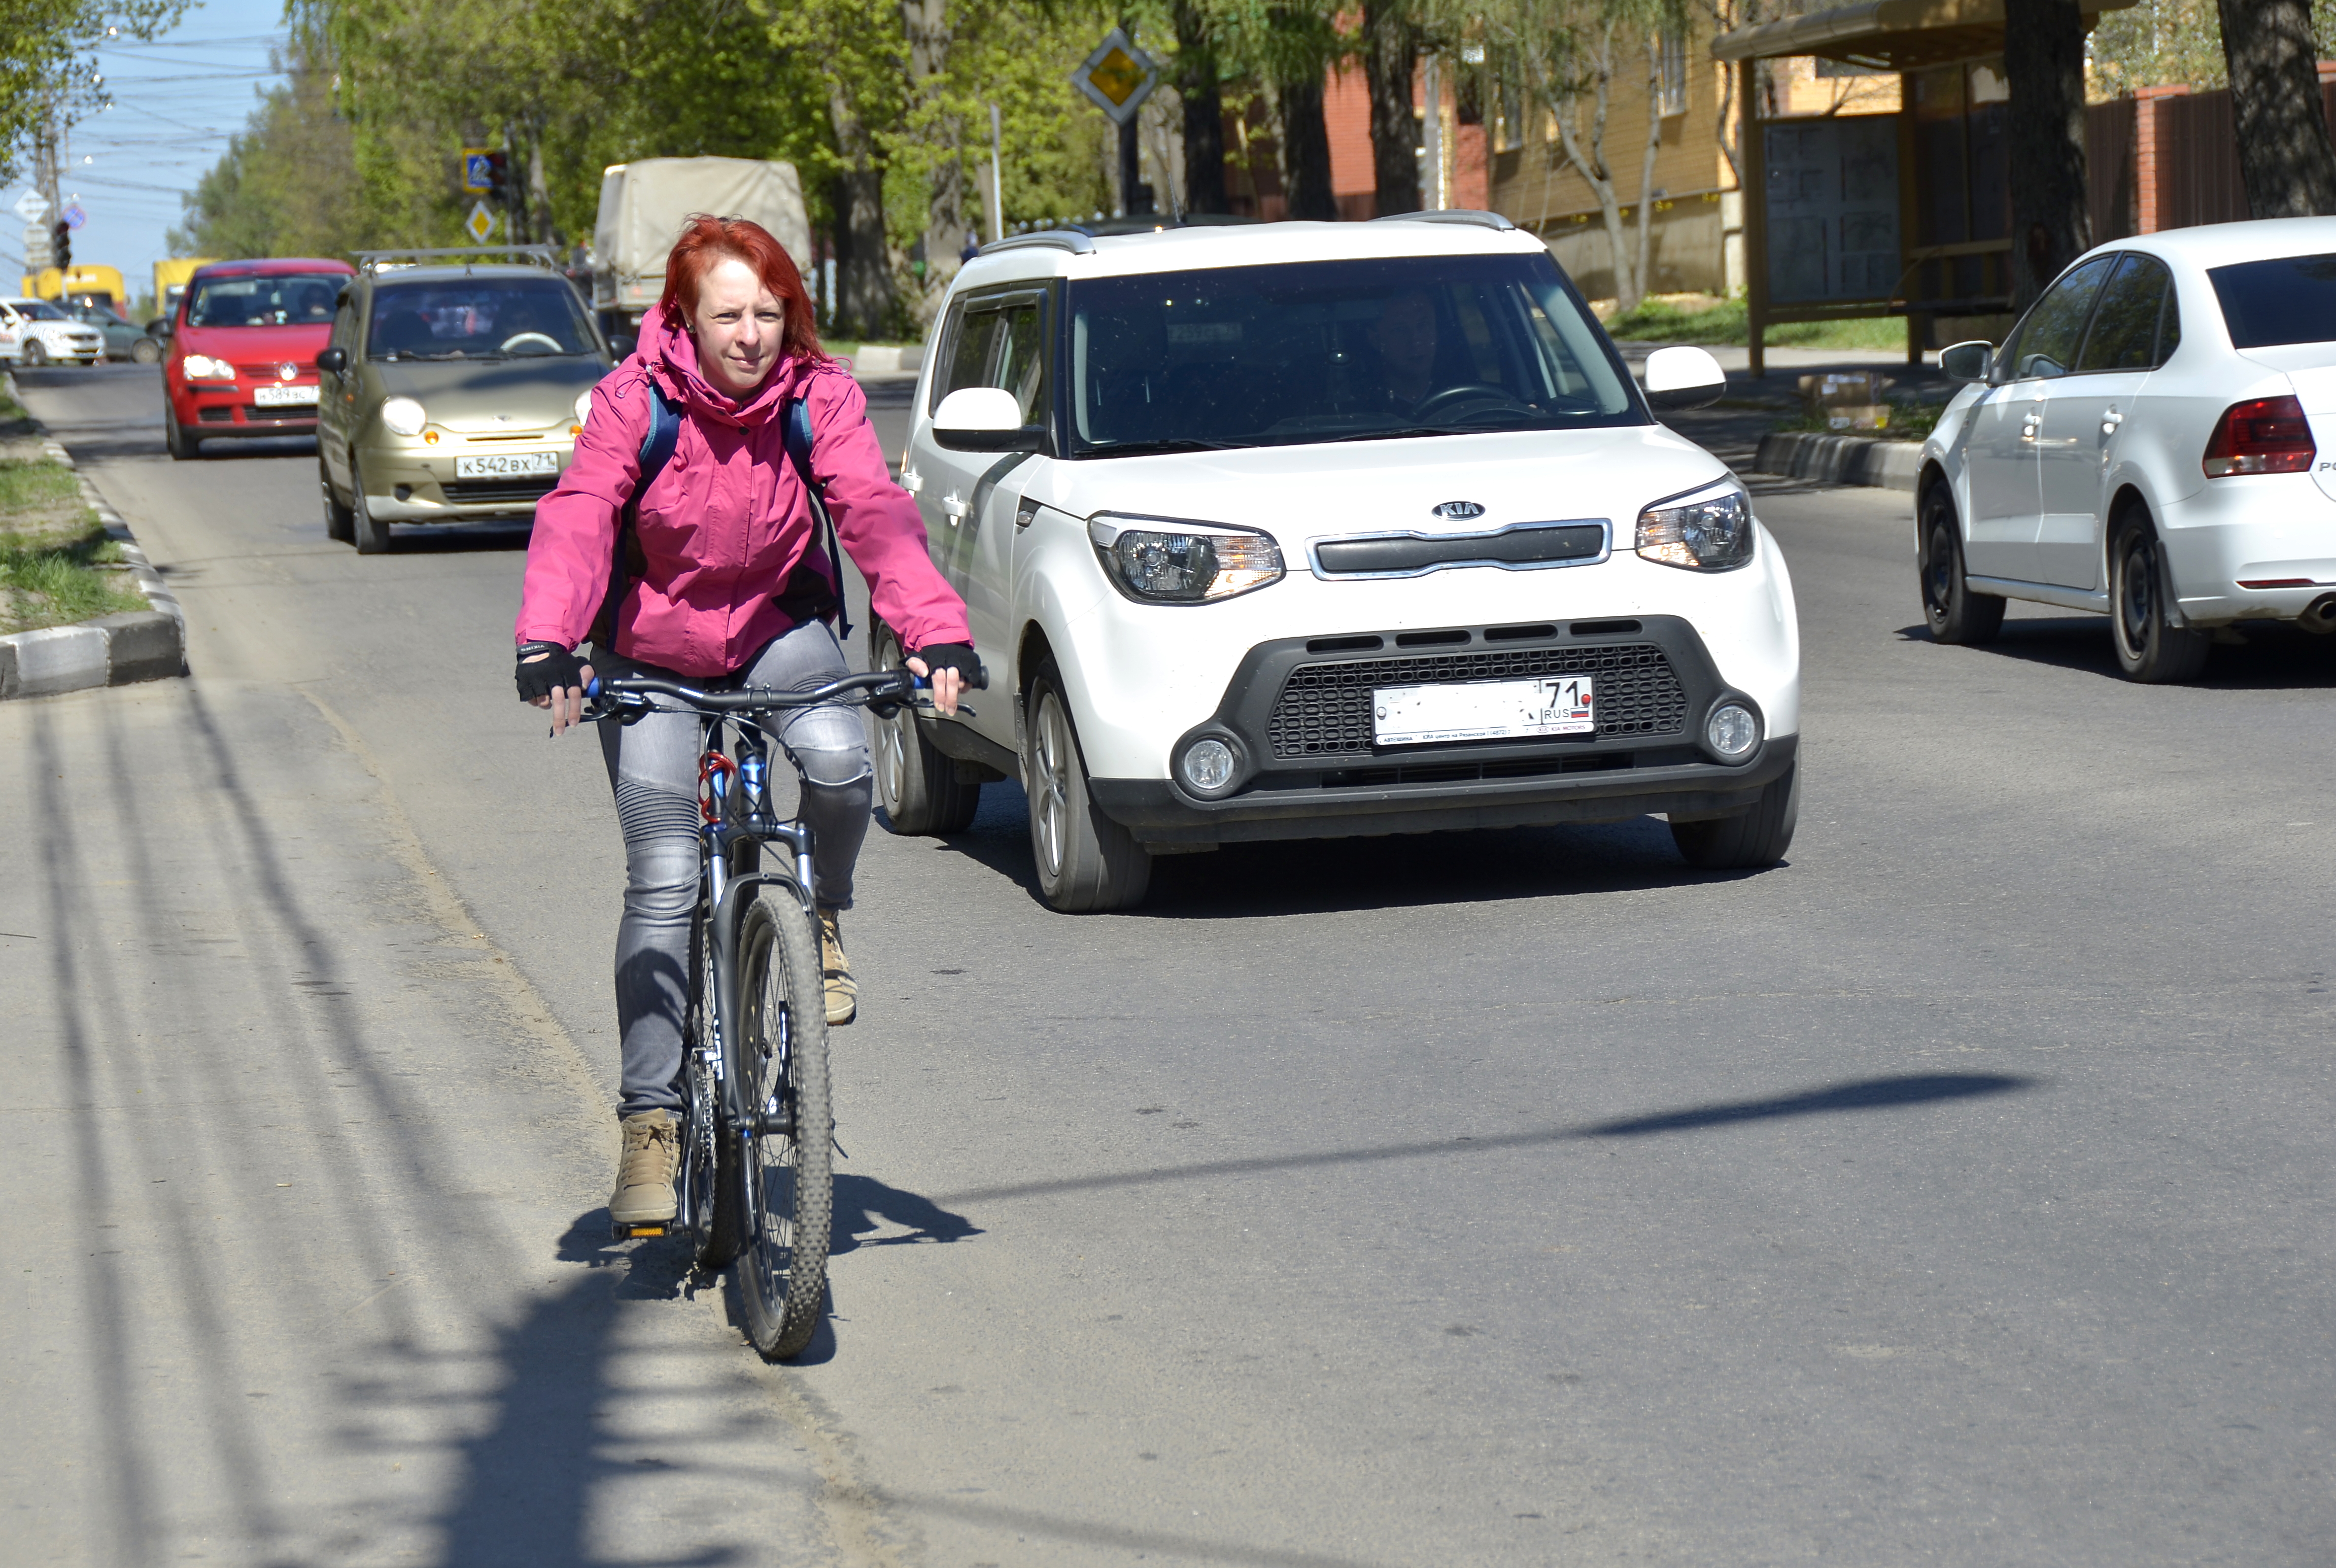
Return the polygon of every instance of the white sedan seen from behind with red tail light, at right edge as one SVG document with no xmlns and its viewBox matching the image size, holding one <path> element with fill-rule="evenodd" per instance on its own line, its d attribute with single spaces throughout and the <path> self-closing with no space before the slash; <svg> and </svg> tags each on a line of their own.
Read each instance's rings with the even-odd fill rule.
<svg viewBox="0 0 2336 1568">
<path fill-rule="evenodd" d="M 2336 217 L 2172 229 L 2079 257 L 1923 444 L 1923 612 L 1986 643 L 2007 598 L 2109 617 L 2133 680 L 2215 631 L 2336 631 Z"/>
</svg>

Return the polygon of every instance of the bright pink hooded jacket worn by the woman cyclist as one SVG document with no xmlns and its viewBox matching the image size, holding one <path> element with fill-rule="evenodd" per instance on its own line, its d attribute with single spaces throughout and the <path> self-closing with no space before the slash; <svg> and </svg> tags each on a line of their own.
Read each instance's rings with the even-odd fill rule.
<svg viewBox="0 0 2336 1568">
<path fill-rule="evenodd" d="M 869 580 L 876 615 L 909 650 L 974 640 L 965 601 L 932 566 L 916 502 L 885 472 L 860 383 L 836 365 L 790 358 L 738 404 L 703 379 L 689 337 L 649 311 L 640 351 L 593 388 L 575 463 L 535 507 L 521 643 L 575 647 L 591 633 L 617 519 L 640 479 L 649 376 L 680 404 L 682 432 L 640 498 L 647 570 L 617 608 L 617 652 L 682 675 L 729 675 L 794 624 L 773 601 L 797 561 L 820 566 L 822 556 L 811 498 L 787 458 L 787 397 L 806 402 L 811 472 L 827 486 L 827 512 Z"/>
</svg>

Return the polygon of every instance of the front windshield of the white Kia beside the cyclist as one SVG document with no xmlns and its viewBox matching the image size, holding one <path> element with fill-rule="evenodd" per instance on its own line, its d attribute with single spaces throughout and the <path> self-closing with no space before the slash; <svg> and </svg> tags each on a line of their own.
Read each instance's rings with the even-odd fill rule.
<svg viewBox="0 0 2336 1568">
<path fill-rule="evenodd" d="M 1546 255 L 1070 285 L 1072 453 L 1645 423 Z"/>
</svg>

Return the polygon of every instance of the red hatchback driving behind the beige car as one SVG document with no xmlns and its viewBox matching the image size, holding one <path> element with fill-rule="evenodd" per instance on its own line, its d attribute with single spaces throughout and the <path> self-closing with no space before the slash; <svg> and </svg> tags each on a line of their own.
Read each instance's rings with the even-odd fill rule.
<svg viewBox="0 0 2336 1568">
<path fill-rule="evenodd" d="M 161 362 L 164 437 L 192 458 L 215 435 L 313 435 L 315 355 L 357 269 L 271 257 L 196 266 Z"/>
</svg>

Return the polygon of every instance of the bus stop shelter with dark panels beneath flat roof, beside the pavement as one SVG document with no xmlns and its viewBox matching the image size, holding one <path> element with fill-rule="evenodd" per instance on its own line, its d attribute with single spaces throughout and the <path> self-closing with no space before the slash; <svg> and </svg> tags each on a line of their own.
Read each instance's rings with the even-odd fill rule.
<svg viewBox="0 0 2336 1568">
<path fill-rule="evenodd" d="M 2135 0 L 2079 0 L 2086 28 Z M 1817 56 L 1897 72 L 1894 115 L 1761 115 L 1759 61 Z M 2011 311 L 2004 0 L 1864 0 L 1712 40 L 1743 103 L 1745 304 L 1752 374 L 1766 329 L 1906 318 L 1990 334 Z M 1969 325 L 1969 332 L 1960 327 Z"/>
</svg>

